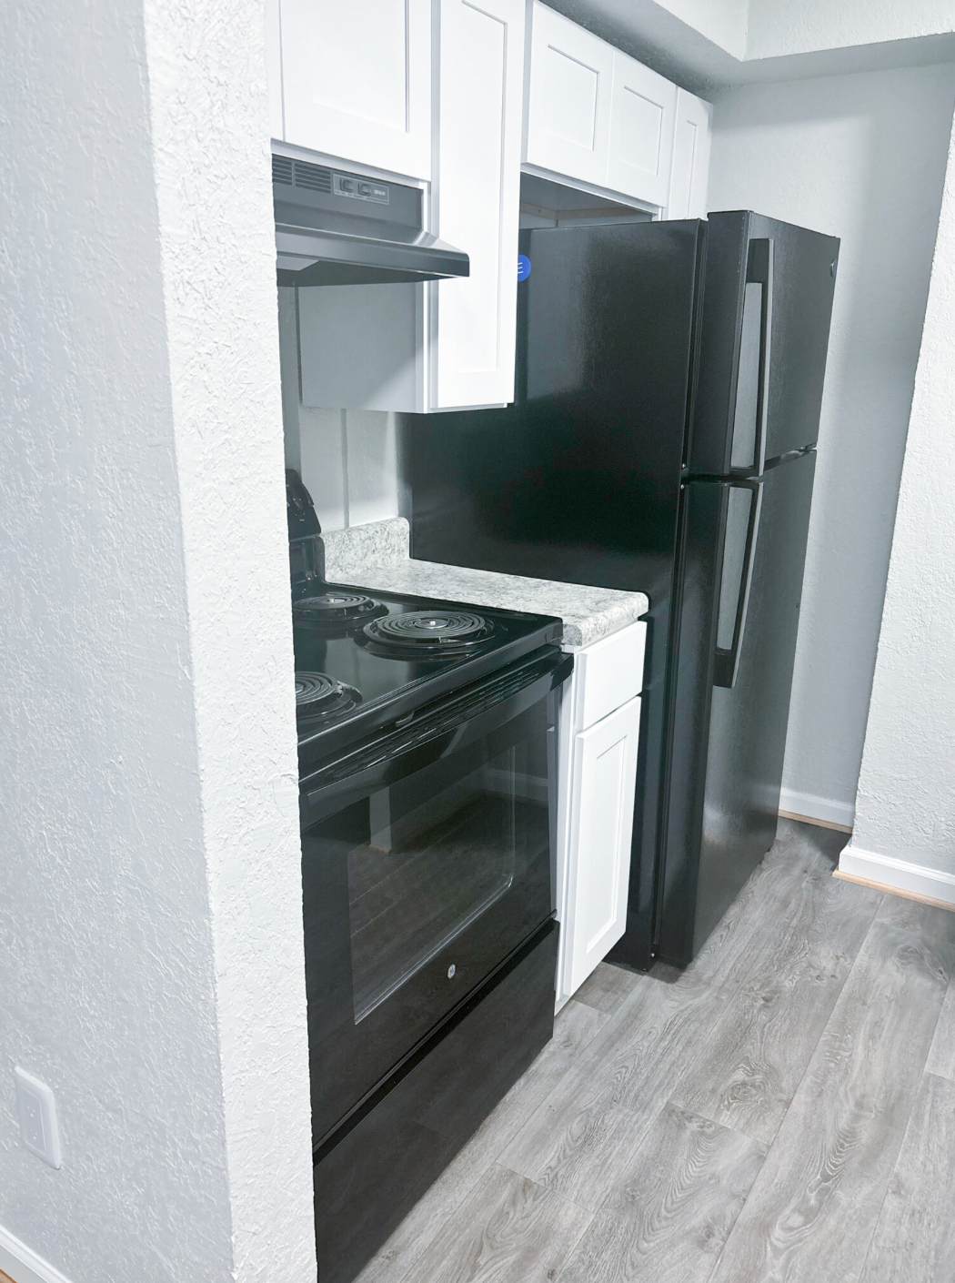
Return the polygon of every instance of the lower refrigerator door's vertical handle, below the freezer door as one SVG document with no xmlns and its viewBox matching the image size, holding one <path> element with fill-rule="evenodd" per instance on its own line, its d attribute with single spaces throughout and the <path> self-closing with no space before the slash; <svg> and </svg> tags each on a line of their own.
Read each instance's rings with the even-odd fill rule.
<svg viewBox="0 0 955 1283">
<path fill-rule="evenodd" d="M 713 685 L 732 689 L 740 667 L 740 650 L 746 627 L 759 513 L 763 507 L 763 485 L 760 481 L 729 481 L 726 484 L 726 490 L 727 520 L 719 579 Z M 741 548 L 743 521 L 746 536 Z"/>
</svg>

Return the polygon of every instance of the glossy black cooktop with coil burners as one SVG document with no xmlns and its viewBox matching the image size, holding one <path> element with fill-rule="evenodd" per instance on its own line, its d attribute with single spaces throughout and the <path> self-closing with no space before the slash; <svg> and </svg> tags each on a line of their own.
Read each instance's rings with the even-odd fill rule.
<svg viewBox="0 0 955 1283">
<path fill-rule="evenodd" d="M 559 642 L 560 620 L 323 584 L 292 602 L 299 754 L 309 761 Z"/>
</svg>

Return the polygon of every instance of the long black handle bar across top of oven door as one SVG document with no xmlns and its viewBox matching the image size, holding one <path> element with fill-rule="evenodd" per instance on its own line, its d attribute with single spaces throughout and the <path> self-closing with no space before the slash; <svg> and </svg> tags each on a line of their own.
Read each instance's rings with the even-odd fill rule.
<svg viewBox="0 0 955 1283">
<path fill-rule="evenodd" d="M 410 725 L 320 767 L 301 781 L 303 825 L 387 788 L 513 721 L 546 699 L 572 670 L 573 656 L 547 647 L 546 654 L 529 663 L 478 683 L 437 708 L 423 708 Z"/>
</svg>

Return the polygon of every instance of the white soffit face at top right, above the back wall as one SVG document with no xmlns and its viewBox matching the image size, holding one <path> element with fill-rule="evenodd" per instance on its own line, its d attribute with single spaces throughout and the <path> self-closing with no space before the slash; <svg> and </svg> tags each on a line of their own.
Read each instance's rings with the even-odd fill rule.
<svg viewBox="0 0 955 1283">
<path fill-rule="evenodd" d="M 749 0 L 746 56 L 781 58 L 951 31 L 951 0 Z"/>
</svg>

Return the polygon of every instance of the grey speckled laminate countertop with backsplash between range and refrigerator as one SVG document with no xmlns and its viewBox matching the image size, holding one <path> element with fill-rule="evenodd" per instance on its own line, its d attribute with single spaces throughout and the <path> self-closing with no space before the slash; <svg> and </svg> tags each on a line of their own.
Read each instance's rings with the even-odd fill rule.
<svg viewBox="0 0 955 1283">
<path fill-rule="evenodd" d="M 415 561 L 408 556 L 408 522 L 403 517 L 328 531 L 323 539 L 329 582 L 555 615 L 564 621 L 564 642 L 572 647 L 591 645 L 617 633 L 650 604 L 645 593 Z"/>
</svg>

